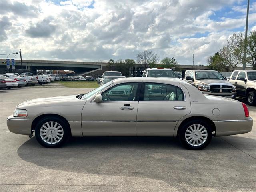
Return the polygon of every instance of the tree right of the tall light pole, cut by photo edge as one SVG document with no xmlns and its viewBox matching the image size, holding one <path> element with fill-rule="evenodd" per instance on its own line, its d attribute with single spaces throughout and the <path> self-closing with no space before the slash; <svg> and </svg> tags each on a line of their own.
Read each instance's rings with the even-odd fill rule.
<svg viewBox="0 0 256 192">
<path fill-rule="evenodd" d="M 253 69 L 256 69 L 256 30 L 250 32 L 250 35 L 247 39 L 247 65 L 252 66 Z"/>
</svg>

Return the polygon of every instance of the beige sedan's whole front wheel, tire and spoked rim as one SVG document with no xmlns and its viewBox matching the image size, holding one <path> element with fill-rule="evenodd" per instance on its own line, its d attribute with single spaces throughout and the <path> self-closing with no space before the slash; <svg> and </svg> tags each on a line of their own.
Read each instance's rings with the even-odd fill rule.
<svg viewBox="0 0 256 192">
<path fill-rule="evenodd" d="M 69 127 L 58 117 L 46 117 L 36 124 L 36 140 L 44 147 L 58 148 L 70 136 Z"/>
</svg>

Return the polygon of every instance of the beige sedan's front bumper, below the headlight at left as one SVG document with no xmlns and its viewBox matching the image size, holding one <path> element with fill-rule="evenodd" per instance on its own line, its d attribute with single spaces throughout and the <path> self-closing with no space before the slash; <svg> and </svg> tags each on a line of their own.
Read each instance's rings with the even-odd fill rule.
<svg viewBox="0 0 256 192">
<path fill-rule="evenodd" d="M 7 127 L 10 132 L 22 135 L 31 135 L 31 126 L 33 120 L 22 117 L 9 116 L 7 118 Z"/>
</svg>

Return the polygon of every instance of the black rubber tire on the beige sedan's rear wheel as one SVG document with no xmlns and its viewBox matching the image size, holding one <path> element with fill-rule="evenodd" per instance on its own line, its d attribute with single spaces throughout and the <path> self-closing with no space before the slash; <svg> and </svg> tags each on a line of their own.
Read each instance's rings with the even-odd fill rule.
<svg viewBox="0 0 256 192">
<path fill-rule="evenodd" d="M 202 128 L 202 136 L 206 134 L 207 132 L 207 136 L 203 136 L 206 140 L 203 140 L 202 138 L 200 138 L 200 132 L 193 132 L 190 129 L 190 126 L 192 126 L 192 128 L 194 128 L 194 125 L 196 125 L 196 128 L 198 128 L 198 125 L 203 126 L 205 129 Z M 201 127 L 200 127 L 201 128 Z M 199 130 L 200 130 L 199 128 Z M 206 132 L 204 132 L 204 130 L 206 130 Z M 187 136 L 188 138 L 186 139 L 186 132 L 189 133 L 188 131 L 191 131 L 192 133 L 192 138 L 189 140 L 188 138 L 190 136 Z M 193 146 L 193 142 L 194 142 L 194 137 L 199 138 L 203 143 L 200 143 L 198 140 L 199 145 L 196 146 L 196 143 L 194 143 L 195 145 Z M 212 129 L 210 127 L 210 125 L 208 123 L 206 123 L 205 121 L 202 120 L 191 120 L 187 123 L 185 123 L 178 132 L 178 137 L 180 142 L 189 150 L 201 150 L 203 148 L 205 148 L 206 146 L 208 146 L 208 144 L 211 142 L 212 140 Z M 192 140 L 191 144 L 189 144 L 189 142 Z"/>
</svg>

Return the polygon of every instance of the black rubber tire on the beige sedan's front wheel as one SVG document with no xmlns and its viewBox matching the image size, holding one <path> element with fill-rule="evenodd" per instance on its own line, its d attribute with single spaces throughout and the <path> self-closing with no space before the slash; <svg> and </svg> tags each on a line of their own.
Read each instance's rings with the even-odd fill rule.
<svg viewBox="0 0 256 192">
<path fill-rule="evenodd" d="M 40 129 L 41 127 L 47 123 L 47 122 L 56 122 L 58 123 L 63 131 L 60 132 L 61 134 L 63 134 L 61 140 L 59 140 L 58 142 L 56 143 L 53 143 L 53 144 L 49 144 L 47 143 L 46 141 L 44 141 L 41 136 L 40 136 Z M 56 132 L 53 132 L 52 134 L 56 134 Z M 70 137 L 70 129 L 69 129 L 69 126 L 66 124 L 66 122 L 64 120 L 62 120 L 61 118 L 58 118 L 58 117 L 45 117 L 45 118 L 42 118 L 37 124 L 36 124 L 36 128 L 35 128 L 35 136 L 36 136 L 36 140 L 44 147 L 46 148 L 58 148 L 60 146 L 62 146 L 67 140 L 68 138 Z M 50 142 L 50 141 L 48 141 Z"/>
</svg>

